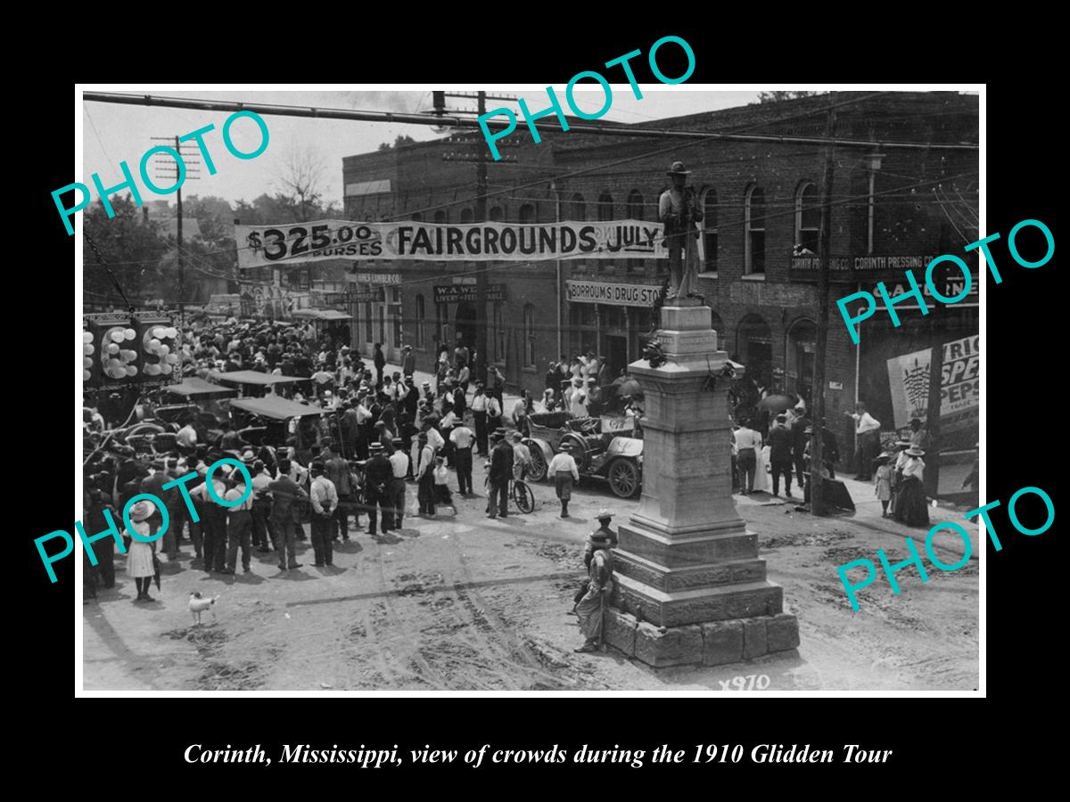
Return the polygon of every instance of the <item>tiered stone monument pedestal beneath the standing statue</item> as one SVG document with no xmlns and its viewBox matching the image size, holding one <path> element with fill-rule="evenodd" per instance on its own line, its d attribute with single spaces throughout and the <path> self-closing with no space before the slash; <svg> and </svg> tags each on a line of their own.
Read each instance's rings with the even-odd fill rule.
<svg viewBox="0 0 1070 802">
<path fill-rule="evenodd" d="M 728 355 L 709 307 L 670 303 L 657 333 L 667 361 L 628 366 L 645 397 L 643 492 L 620 527 L 606 642 L 653 666 L 794 649 L 798 621 L 732 498 Z"/>
</svg>

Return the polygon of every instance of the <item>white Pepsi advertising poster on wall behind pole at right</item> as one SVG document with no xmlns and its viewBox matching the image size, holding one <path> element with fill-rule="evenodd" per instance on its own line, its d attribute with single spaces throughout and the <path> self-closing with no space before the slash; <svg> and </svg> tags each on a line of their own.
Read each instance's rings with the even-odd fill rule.
<svg viewBox="0 0 1070 802">
<path fill-rule="evenodd" d="M 976 419 L 980 404 L 980 335 L 944 343 L 941 374 L 941 428 L 944 432 L 964 427 Z M 932 349 L 915 351 L 888 359 L 888 383 L 897 429 L 912 418 L 926 422 L 929 411 L 929 370 Z"/>
</svg>

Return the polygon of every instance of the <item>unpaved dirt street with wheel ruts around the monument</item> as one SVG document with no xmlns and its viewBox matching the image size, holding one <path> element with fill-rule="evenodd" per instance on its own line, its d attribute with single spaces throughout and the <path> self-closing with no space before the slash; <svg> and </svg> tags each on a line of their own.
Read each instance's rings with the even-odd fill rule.
<svg viewBox="0 0 1070 802">
<path fill-rule="evenodd" d="M 483 483 L 476 467 L 476 485 Z M 496 521 L 483 497 L 461 499 L 437 520 L 415 513 L 399 534 L 365 530 L 336 545 L 333 568 L 279 571 L 274 553 L 254 552 L 253 572 L 207 574 L 165 565 L 156 601 L 135 604 L 120 566 L 116 588 L 83 605 L 85 689 L 188 690 L 722 690 L 736 677 L 765 675 L 768 690 L 973 690 L 978 684 L 978 562 L 952 573 L 914 568 L 893 596 L 883 576 L 851 611 L 836 567 L 858 557 L 908 556 L 898 524 L 815 521 L 770 496 L 736 497 L 759 533 L 769 579 L 798 616 L 801 646 L 719 668 L 655 670 L 612 649 L 577 654 L 568 615 L 582 580 L 582 543 L 601 507 L 627 520 L 636 502 L 584 480 L 574 518 L 557 518 L 550 485 L 533 485 L 536 509 Z M 949 518 L 949 516 L 948 516 Z M 366 519 L 365 519 L 366 521 Z M 306 525 L 307 531 L 307 525 Z M 351 533 L 352 534 L 352 533 Z M 166 558 L 164 558 L 166 559 Z M 954 559 L 946 558 L 947 562 Z M 192 626 L 190 590 L 220 595 L 216 620 Z M 763 682 L 764 684 L 764 682 Z"/>
</svg>

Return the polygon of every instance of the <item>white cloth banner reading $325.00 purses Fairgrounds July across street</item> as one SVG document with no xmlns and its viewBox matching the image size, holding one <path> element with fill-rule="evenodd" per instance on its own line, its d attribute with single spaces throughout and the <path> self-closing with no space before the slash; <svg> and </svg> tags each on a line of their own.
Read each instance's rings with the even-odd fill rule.
<svg viewBox="0 0 1070 802">
<path fill-rule="evenodd" d="M 238 266 L 265 267 L 323 259 L 535 261 L 542 259 L 668 259 L 662 227 L 644 220 L 482 222 L 415 220 L 235 226 Z"/>
</svg>

